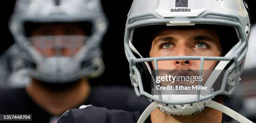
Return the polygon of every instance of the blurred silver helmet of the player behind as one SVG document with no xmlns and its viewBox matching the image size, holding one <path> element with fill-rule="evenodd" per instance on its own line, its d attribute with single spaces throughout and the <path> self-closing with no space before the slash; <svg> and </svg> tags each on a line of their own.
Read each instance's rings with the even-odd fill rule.
<svg viewBox="0 0 256 123">
<path fill-rule="evenodd" d="M 40 24 L 76 23 L 84 35 L 29 35 Z M 29 56 L 28 75 L 47 83 L 97 77 L 104 71 L 100 44 L 108 28 L 100 0 L 17 0 L 9 28 Z M 62 49 L 69 49 L 64 55 Z M 46 49 L 54 49 L 46 56 Z M 24 59 L 25 60 L 25 59 Z"/>
</svg>

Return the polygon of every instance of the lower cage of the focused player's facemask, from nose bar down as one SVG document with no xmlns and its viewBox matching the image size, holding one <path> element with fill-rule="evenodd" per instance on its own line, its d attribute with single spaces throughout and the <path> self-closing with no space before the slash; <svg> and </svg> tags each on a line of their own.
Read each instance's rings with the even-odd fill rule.
<svg viewBox="0 0 256 123">
<path fill-rule="evenodd" d="M 201 64 L 200 64 L 200 73 L 203 72 L 203 64 L 205 60 L 221 60 L 221 61 L 230 61 L 230 60 L 234 60 L 234 64 L 230 66 L 230 68 L 225 72 L 225 77 L 223 78 L 223 82 L 222 82 L 222 86 L 221 86 L 221 90 L 218 90 L 214 93 L 211 93 L 209 95 L 206 95 L 202 98 L 200 98 L 200 90 L 197 90 L 197 98 L 194 101 L 186 101 L 184 103 L 179 103 L 179 102 L 175 102 L 175 101 L 169 101 L 169 100 L 161 100 L 161 92 L 159 90 L 159 98 L 155 98 L 154 96 L 146 93 L 143 90 L 143 85 L 142 85 L 142 80 L 140 77 L 140 73 L 138 72 L 138 69 L 133 66 L 132 67 L 132 71 L 131 71 L 131 75 L 137 75 L 138 76 L 138 81 L 137 84 L 139 87 L 139 92 L 141 93 L 141 95 L 145 95 L 148 98 L 151 98 L 153 100 L 156 100 L 160 103 L 167 103 L 167 104 L 187 104 L 187 103 L 195 103 L 195 102 L 199 102 L 208 98 L 212 98 L 215 95 L 221 94 L 224 92 L 225 89 L 225 85 L 228 79 L 228 75 L 232 72 L 232 70 L 235 68 L 235 73 L 238 72 L 238 69 L 236 66 L 239 66 L 238 64 L 238 58 L 237 56 L 233 56 L 233 57 L 202 57 L 202 56 L 169 56 L 169 57 L 154 57 L 154 58 L 131 58 L 131 62 L 135 62 L 135 63 L 141 63 L 141 62 L 151 62 L 154 61 L 155 64 L 155 70 L 158 70 L 157 68 L 157 61 L 161 61 L 161 60 L 200 60 Z M 234 80 L 235 82 L 238 82 L 239 78 L 235 78 L 236 80 Z M 201 83 L 199 82 L 198 85 L 201 85 Z M 230 92 L 228 93 L 232 93 L 233 89 L 230 90 Z"/>
</svg>

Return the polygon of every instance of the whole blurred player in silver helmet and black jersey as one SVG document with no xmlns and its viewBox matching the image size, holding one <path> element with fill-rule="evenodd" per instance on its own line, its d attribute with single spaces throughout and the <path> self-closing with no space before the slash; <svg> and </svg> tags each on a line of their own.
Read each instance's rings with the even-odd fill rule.
<svg viewBox="0 0 256 123">
<path fill-rule="evenodd" d="M 83 104 L 127 111 L 148 105 L 130 88 L 89 85 L 88 78 L 104 70 L 100 44 L 108 22 L 99 0 L 18 0 L 9 26 L 12 48 L 20 48 L 13 55 L 14 76 L 21 72 L 28 79 L 20 79 L 25 88 L 0 90 L 0 114 L 32 114 L 33 123 L 54 123 Z"/>
</svg>

